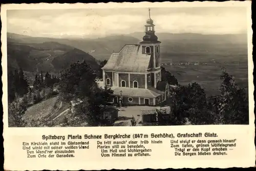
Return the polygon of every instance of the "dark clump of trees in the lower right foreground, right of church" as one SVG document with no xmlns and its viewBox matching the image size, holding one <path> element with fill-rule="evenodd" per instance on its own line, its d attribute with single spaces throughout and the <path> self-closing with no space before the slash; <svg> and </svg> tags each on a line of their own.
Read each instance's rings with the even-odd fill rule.
<svg viewBox="0 0 256 171">
<path fill-rule="evenodd" d="M 195 125 L 249 124 L 248 94 L 245 89 L 239 88 L 224 69 L 220 79 L 221 94 L 213 101 L 206 98 L 204 89 L 196 82 L 187 86 L 178 84 L 167 101 L 172 113 L 168 119 L 163 119 L 164 113 L 158 111 L 158 125 L 183 125 L 187 122 Z"/>
</svg>

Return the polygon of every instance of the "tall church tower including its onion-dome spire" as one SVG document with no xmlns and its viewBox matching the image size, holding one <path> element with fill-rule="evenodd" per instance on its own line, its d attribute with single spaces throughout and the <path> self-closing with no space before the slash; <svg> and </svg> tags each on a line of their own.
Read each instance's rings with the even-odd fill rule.
<svg viewBox="0 0 256 171">
<path fill-rule="evenodd" d="M 142 46 L 142 54 L 151 55 L 150 65 L 148 71 L 151 72 L 151 76 L 148 77 L 147 86 L 156 88 L 157 82 L 161 81 L 161 67 L 160 67 L 160 43 L 158 37 L 155 35 L 155 25 L 153 19 L 150 16 L 150 9 L 148 9 L 148 19 L 145 24 L 145 35 L 143 41 L 140 42 Z"/>
</svg>

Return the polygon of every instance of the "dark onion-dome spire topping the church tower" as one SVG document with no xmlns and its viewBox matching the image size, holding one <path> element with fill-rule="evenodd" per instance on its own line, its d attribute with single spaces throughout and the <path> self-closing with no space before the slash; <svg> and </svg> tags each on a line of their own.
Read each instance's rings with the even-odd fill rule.
<svg viewBox="0 0 256 171">
<path fill-rule="evenodd" d="M 148 9 L 148 19 L 145 24 L 145 35 L 143 36 L 143 41 L 140 43 L 149 43 L 149 42 L 160 42 L 158 37 L 155 35 L 155 25 L 153 24 L 153 19 L 150 16 L 150 8 Z"/>
</svg>

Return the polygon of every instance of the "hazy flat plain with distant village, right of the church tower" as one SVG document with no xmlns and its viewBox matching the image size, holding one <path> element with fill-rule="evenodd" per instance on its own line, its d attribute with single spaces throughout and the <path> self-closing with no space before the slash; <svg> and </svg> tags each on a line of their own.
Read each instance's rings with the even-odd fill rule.
<svg viewBox="0 0 256 171">
<path fill-rule="evenodd" d="M 173 65 L 163 66 L 167 71 L 174 74 L 181 84 L 198 82 L 205 88 L 206 94 L 217 95 L 221 84 L 221 68 L 234 76 L 236 83 L 243 88 L 248 87 L 248 64 L 246 54 L 237 54 L 234 56 L 225 54 L 189 54 L 179 57 L 168 53 L 162 55 L 161 63 L 170 63 Z M 171 57 L 173 56 L 173 58 Z M 200 62 L 199 65 L 178 65 L 182 62 Z"/>
</svg>

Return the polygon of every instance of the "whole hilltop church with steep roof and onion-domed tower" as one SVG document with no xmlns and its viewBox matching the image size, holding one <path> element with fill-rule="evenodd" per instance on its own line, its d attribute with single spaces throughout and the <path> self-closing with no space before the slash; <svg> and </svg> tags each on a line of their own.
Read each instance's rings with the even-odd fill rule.
<svg viewBox="0 0 256 171">
<path fill-rule="evenodd" d="M 148 12 L 142 41 L 113 52 L 102 68 L 103 84 L 114 91 L 114 103 L 157 105 L 167 98 L 168 85 L 161 81 L 161 42 Z"/>
</svg>

